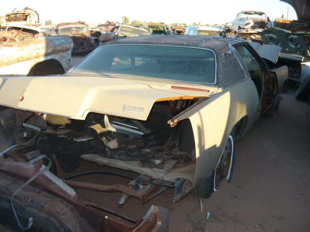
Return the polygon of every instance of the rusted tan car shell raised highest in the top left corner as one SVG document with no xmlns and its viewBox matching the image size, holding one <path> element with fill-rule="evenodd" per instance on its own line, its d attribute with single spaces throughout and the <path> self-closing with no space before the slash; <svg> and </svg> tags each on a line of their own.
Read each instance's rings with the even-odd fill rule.
<svg viewBox="0 0 310 232">
<path fill-rule="evenodd" d="M 21 25 L 28 25 L 39 27 L 40 20 L 39 14 L 32 10 L 31 8 L 25 7 L 21 11 L 15 11 L 16 8 L 13 10 L 12 13 L 5 14 L 4 16 L 0 17 L 0 27 L 6 27 L 13 24 L 21 24 Z"/>
</svg>

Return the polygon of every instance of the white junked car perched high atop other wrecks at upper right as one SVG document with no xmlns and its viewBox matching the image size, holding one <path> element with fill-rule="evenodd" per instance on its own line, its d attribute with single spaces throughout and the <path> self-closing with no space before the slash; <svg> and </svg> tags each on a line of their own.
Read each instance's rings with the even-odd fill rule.
<svg viewBox="0 0 310 232">
<path fill-rule="evenodd" d="M 260 11 L 241 11 L 233 20 L 235 33 L 258 33 L 267 28 L 267 16 Z"/>
</svg>

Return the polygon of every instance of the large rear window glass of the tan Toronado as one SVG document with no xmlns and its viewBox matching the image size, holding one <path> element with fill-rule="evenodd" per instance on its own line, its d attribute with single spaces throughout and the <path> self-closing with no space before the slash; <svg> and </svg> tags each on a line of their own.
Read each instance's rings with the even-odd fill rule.
<svg viewBox="0 0 310 232">
<path fill-rule="evenodd" d="M 210 50 L 165 45 L 110 45 L 96 49 L 70 73 L 116 74 L 215 84 Z"/>
</svg>

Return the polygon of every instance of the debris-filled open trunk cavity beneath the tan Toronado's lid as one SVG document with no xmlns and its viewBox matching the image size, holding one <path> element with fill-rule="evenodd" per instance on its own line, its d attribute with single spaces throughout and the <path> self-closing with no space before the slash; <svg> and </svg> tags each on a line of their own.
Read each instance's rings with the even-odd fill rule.
<svg viewBox="0 0 310 232">
<path fill-rule="evenodd" d="M 97 113 L 77 120 L 4 107 L 0 119 L 9 145 L 30 141 L 38 133 L 23 123 L 41 128 L 33 143 L 15 150 L 27 160 L 46 154 L 53 166 L 72 172 L 82 158 L 162 179 L 173 166 L 175 170 L 195 163 L 190 121 L 173 128 L 167 124 L 195 102 L 155 102 L 146 121 Z M 57 174 L 55 167 L 51 171 Z"/>
</svg>

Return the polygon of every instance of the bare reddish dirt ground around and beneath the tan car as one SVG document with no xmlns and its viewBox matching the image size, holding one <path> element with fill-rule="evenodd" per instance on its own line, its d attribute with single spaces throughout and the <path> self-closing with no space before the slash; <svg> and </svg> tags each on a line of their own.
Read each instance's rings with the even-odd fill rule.
<svg viewBox="0 0 310 232">
<path fill-rule="evenodd" d="M 134 218 L 143 217 L 153 204 L 166 207 L 170 210 L 171 232 L 309 232 L 308 102 L 295 100 L 294 89 L 289 89 L 283 94 L 277 116 L 261 117 L 236 144 L 235 154 L 232 181 L 222 183 L 209 199 L 190 193 L 180 202 L 172 203 L 174 189 L 168 189 L 144 205 L 129 198 L 119 206 L 120 193 L 77 191 Z M 89 168 L 112 169 L 88 161 L 82 164 L 74 173 Z M 93 183 L 128 183 L 127 179 L 115 176 L 92 175 L 91 178 Z M 90 176 L 75 180 L 90 181 Z M 7 230 L 0 229 L 0 232 Z"/>
</svg>

